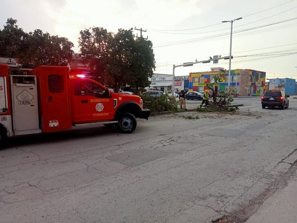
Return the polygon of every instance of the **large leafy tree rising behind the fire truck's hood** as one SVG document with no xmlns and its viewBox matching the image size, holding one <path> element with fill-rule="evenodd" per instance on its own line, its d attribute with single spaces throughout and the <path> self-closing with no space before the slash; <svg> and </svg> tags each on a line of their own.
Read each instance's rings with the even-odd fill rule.
<svg viewBox="0 0 297 223">
<path fill-rule="evenodd" d="M 132 29 L 108 32 L 102 27 L 80 31 L 81 56 L 103 84 L 118 91 L 126 85 L 149 86 L 155 59 L 151 41 L 136 39 Z"/>
</svg>

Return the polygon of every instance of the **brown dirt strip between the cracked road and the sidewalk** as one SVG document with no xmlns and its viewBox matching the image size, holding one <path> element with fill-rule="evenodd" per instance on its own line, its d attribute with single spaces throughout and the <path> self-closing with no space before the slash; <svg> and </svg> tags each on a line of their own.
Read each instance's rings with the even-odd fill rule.
<svg viewBox="0 0 297 223">
<path fill-rule="evenodd" d="M 264 203 L 268 197 L 271 197 L 275 192 L 285 188 L 287 186 L 288 180 L 297 169 L 297 161 L 290 167 L 290 169 L 284 174 L 281 175 L 279 179 L 275 179 L 270 186 L 263 191 L 257 198 L 249 201 L 249 204 L 242 207 L 241 209 L 230 213 L 229 215 L 223 216 L 219 219 L 214 219 L 212 222 L 220 223 L 241 223 L 246 222 L 250 216 L 252 216 L 258 208 Z"/>
</svg>

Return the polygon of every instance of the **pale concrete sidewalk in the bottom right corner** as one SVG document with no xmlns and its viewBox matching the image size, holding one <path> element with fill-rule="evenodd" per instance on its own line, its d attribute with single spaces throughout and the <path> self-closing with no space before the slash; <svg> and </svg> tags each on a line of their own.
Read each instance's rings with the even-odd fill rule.
<svg viewBox="0 0 297 223">
<path fill-rule="evenodd" d="M 269 197 L 247 223 L 297 222 L 297 171 L 288 185 Z"/>
</svg>

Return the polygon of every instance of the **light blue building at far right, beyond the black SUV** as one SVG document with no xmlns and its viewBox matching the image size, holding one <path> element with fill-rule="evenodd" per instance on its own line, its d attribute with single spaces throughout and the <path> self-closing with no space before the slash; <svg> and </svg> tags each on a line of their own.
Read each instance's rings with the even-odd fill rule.
<svg viewBox="0 0 297 223">
<path fill-rule="evenodd" d="M 269 90 L 281 90 L 286 95 L 294 95 L 296 80 L 292 78 L 273 78 L 269 80 Z"/>
</svg>

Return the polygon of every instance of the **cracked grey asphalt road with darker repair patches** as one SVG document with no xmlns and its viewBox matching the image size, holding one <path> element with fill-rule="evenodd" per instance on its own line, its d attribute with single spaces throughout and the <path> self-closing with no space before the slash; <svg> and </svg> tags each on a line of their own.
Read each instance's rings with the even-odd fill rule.
<svg viewBox="0 0 297 223">
<path fill-rule="evenodd" d="M 102 126 L 9 140 L 0 222 L 211 222 L 236 213 L 293 167 L 297 99 L 285 110 L 236 101 L 244 113 L 166 114 L 140 120 L 132 134 Z"/>
</svg>

